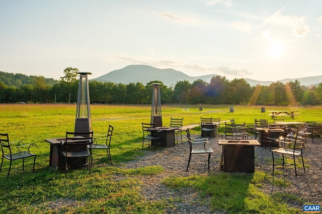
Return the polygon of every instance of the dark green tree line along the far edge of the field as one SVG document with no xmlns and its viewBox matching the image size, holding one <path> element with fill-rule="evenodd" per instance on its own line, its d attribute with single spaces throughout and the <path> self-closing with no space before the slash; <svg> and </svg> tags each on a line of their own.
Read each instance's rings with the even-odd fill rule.
<svg viewBox="0 0 322 214">
<path fill-rule="evenodd" d="M 8 85 L 0 76 L 0 102 L 76 102 L 76 72 L 77 68 L 68 67 L 59 81 L 48 82 L 43 76 L 33 76 L 31 82 L 20 86 Z M 123 84 L 89 81 L 90 99 L 92 103 L 149 104 L 152 83 L 162 82 L 155 80 L 144 85 L 141 82 Z M 320 105 L 322 83 L 311 88 L 301 85 L 298 80 L 251 86 L 244 78 L 229 81 L 225 76 L 213 76 L 210 82 L 197 79 L 192 83 L 187 80 L 178 81 L 174 86 L 160 85 L 160 98 L 162 103 Z"/>
</svg>

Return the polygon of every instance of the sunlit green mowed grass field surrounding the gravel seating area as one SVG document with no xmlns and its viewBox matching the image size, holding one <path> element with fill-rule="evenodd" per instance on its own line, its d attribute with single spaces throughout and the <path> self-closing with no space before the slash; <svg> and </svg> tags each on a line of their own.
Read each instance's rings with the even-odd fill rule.
<svg viewBox="0 0 322 214">
<path fill-rule="evenodd" d="M 234 119 L 236 123 L 254 124 L 254 119 L 273 122 L 267 111 L 298 110 L 295 121 L 320 122 L 320 107 L 248 106 L 235 105 L 234 113 L 229 113 L 232 105 L 164 105 L 162 106 L 163 126 L 170 124 L 170 118 L 184 118 L 184 126 L 199 124 L 200 117 L 220 118 L 222 121 Z M 266 113 L 261 113 L 261 108 Z M 9 133 L 11 141 L 23 140 L 32 143 L 31 151 L 37 154 L 36 171 L 22 172 L 21 162 L 12 166 L 14 174 L 7 178 L 9 161 L 4 160 L 0 173 L 1 213 L 164 213 L 173 201 L 179 198 L 164 198 L 149 201 L 140 194 L 140 177 L 164 171 L 159 166 L 137 169 L 121 169 L 118 166 L 143 155 L 141 122 L 150 121 L 150 105 L 91 105 L 92 128 L 94 133 L 105 133 L 108 125 L 114 126 L 111 153 L 115 163 L 108 163 L 104 151 L 95 151 L 93 169 L 89 176 L 86 169 L 70 170 L 65 177 L 60 170 L 48 166 L 50 146 L 47 138 L 61 138 L 66 131 L 73 131 L 75 104 L 1 104 L 1 133 Z M 285 121 L 292 121 L 284 118 Z M 221 126 L 223 127 L 223 126 Z M 200 133 L 200 128 L 193 133 Z M 149 148 L 145 148 L 149 149 Z M 157 152 L 157 151 L 156 151 Z M 188 154 L 187 154 L 188 155 Z M 26 161 L 30 169 L 31 161 Z M 281 198 L 299 200 L 293 195 L 268 195 L 258 186 L 273 182 L 271 174 L 200 174 L 189 177 L 176 176 L 163 181 L 170 188 L 191 188 L 201 197 L 211 195 L 214 210 L 240 213 L 295 213 Z M 275 185 L 286 185 L 274 180 Z M 214 188 L 220 187 L 220 188 Z M 238 191 L 236 191 L 238 187 Z M 201 203 L 206 201 L 199 201 Z M 308 201 L 309 202 L 309 201 Z"/>
</svg>

